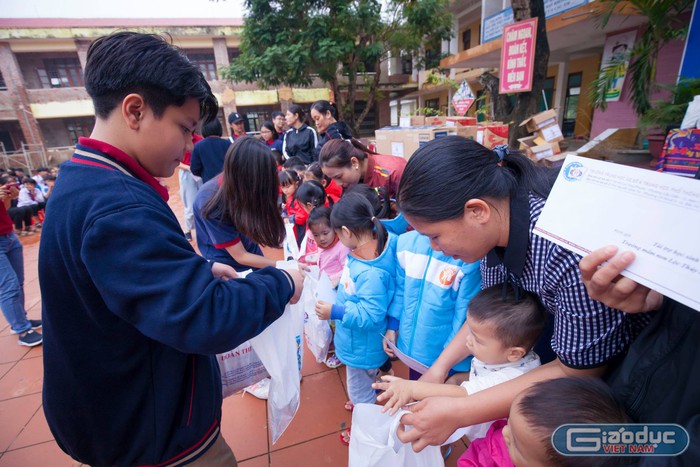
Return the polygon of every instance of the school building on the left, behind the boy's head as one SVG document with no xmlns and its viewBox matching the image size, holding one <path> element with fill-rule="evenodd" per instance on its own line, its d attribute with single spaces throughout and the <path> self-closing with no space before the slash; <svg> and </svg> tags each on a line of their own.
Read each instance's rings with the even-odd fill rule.
<svg viewBox="0 0 700 467">
<path fill-rule="evenodd" d="M 0 19 L 0 155 L 39 147 L 69 152 L 78 137 L 90 134 L 94 110 L 83 83 L 87 49 L 95 38 L 120 29 L 169 35 L 209 81 L 225 132 L 230 131 L 225 116 L 232 111 L 247 118 L 249 131 L 257 131 L 275 110 L 332 100 L 318 80 L 309 88 L 261 89 L 255 83 L 221 79 L 220 70 L 240 54 L 242 27 L 243 20 L 237 18 Z M 369 112 L 361 134 L 389 124 L 389 95 L 417 88 L 410 64 L 391 74 L 389 63 L 383 67 L 383 89 L 391 92 Z M 7 165 L 7 158 L 0 162 Z M 15 163 L 26 165 L 21 157 Z"/>
</svg>

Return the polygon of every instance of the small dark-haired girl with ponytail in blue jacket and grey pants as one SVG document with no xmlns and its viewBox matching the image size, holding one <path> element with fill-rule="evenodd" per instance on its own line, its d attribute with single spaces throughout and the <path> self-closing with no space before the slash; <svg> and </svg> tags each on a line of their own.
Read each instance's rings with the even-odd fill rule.
<svg viewBox="0 0 700 467">
<path fill-rule="evenodd" d="M 335 351 L 346 366 L 348 395 L 354 404 L 373 404 L 372 389 L 379 367 L 386 361 L 382 334 L 394 295 L 396 236 L 374 216 L 369 201 L 359 194 L 343 196 L 331 212 L 331 227 L 350 248 L 340 277 L 335 305 L 319 301 L 320 319 L 335 320 Z M 343 442 L 347 436 L 343 436 Z"/>
</svg>

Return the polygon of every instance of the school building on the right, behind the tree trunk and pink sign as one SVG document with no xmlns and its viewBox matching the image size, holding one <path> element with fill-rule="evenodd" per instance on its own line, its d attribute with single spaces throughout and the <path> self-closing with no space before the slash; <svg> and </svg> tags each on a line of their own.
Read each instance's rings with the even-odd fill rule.
<svg viewBox="0 0 700 467">
<path fill-rule="evenodd" d="M 623 2 L 605 28 L 601 28 L 598 13 L 605 7 L 598 2 L 544 0 L 544 5 L 550 57 L 540 110 L 556 109 L 559 125 L 567 137 L 587 139 L 608 128 L 636 127 L 637 116 L 629 98 L 629 76 L 619 101 L 608 102 L 606 111 L 594 110 L 587 93 L 600 71 L 606 41 L 627 32 L 639 37 L 646 17 Z M 443 42 L 442 53 L 447 56 L 440 61 L 440 68 L 447 71 L 420 72 L 418 90 L 391 102 L 393 124 L 398 124 L 399 116 L 412 115 L 416 109 L 426 107 L 454 115 L 450 105 L 454 84 L 466 80 L 479 97 L 483 95 L 479 77 L 483 73 L 499 75 L 503 26 L 513 23 L 511 0 L 455 0 L 451 11 L 455 36 Z M 683 48 L 684 42 L 677 41 L 661 50 L 656 81 L 675 84 Z M 661 97 L 663 93 L 652 100 Z M 482 102 L 477 102 L 468 114 L 475 116 L 481 105 Z"/>
</svg>

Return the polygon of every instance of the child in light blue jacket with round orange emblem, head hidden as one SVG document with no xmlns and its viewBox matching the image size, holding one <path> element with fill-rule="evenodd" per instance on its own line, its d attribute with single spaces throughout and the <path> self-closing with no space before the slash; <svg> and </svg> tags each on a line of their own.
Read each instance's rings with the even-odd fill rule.
<svg viewBox="0 0 700 467">
<path fill-rule="evenodd" d="M 400 235 L 387 338 L 401 352 L 430 367 L 464 324 L 469 301 L 480 289 L 478 262 L 465 263 L 433 250 L 430 239 L 416 231 Z M 394 356 L 386 343 L 385 351 Z M 452 370 L 469 371 L 470 360 Z M 420 374 L 410 370 L 409 376 L 415 380 Z"/>
</svg>

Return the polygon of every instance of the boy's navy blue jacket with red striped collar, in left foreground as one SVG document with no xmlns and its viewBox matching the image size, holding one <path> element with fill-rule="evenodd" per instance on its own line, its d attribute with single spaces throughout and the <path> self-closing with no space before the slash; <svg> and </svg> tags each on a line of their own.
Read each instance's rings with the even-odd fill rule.
<svg viewBox="0 0 700 467">
<path fill-rule="evenodd" d="M 44 412 L 58 445 L 94 466 L 206 452 L 221 421 L 212 355 L 259 334 L 293 294 L 274 268 L 215 279 L 148 177 L 81 138 L 41 235 Z"/>
</svg>

